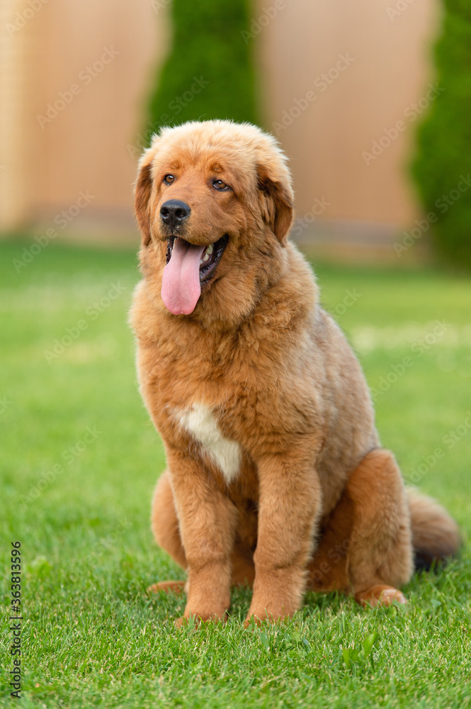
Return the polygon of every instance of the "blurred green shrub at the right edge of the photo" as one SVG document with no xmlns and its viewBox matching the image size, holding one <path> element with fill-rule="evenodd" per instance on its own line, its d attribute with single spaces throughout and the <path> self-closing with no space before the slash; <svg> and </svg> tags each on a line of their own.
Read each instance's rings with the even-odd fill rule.
<svg viewBox="0 0 471 709">
<path fill-rule="evenodd" d="M 412 174 L 424 210 L 436 215 L 438 251 L 471 267 L 470 0 L 445 0 L 435 62 L 438 86 L 445 90 L 419 125 Z"/>
</svg>

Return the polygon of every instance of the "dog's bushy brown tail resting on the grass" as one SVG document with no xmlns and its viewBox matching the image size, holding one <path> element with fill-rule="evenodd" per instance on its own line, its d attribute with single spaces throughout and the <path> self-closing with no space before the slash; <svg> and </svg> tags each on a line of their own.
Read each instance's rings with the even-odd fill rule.
<svg viewBox="0 0 471 709">
<path fill-rule="evenodd" d="M 448 512 L 414 488 L 407 489 L 416 571 L 453 557 L 461 545 L 460 532 Z"/>
</svg>

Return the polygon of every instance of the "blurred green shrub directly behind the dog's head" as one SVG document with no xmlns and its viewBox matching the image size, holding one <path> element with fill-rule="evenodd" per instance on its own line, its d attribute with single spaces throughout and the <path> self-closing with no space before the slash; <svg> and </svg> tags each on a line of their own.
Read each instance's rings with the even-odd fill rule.
<svg viewBox="0 0 471 709">
<path fill-rule="evenodd" d="M 147 139 L 161 125 L 257 122 L 247 0 L 174 0 L 172 48 L 149 101 Z"/>
</svg>

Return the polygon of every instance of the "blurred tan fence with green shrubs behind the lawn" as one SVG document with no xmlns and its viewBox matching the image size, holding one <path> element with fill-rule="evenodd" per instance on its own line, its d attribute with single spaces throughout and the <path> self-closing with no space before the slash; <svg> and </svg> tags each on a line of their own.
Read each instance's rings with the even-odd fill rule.
<svg viewBox="0 0 471 709">
<path fill-rule="evenodd" d="M 219 117 L 278 137 L 293 237 L 317 254 L 426 259 L 453 212 L 469 242 L 470 15 L 458 0 L 3 0 L 0 232 L 136 242 L 149 134 Z"/>
</svg>

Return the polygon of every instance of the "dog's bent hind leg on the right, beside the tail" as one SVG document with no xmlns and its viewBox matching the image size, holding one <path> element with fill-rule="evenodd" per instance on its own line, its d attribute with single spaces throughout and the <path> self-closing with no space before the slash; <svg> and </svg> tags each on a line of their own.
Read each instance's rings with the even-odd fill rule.
<svg viewBox="0 0 471 709">
<path fill-rule="evenodd" d="M 351 474 L 310 562 L 314 591 L 354 593 L 363 605 L 405 603 L 412 571 L 409 508 L 390 451 L 373 450 Z"/>
</svg>

